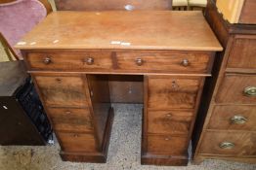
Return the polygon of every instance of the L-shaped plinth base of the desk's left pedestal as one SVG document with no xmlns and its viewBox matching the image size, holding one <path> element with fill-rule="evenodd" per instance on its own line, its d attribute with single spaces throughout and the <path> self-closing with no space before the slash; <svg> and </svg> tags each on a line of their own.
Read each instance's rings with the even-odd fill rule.
<svg viewBox="0 0 256 170">
<path fill-rule="evenodd" d="M 113 108 L 109 109 L 107 118 L 107 127 L 105 132 L 105 138 L 103 142 L 103 151 L 99 153 L 72 153 L 61 151 L 60 155 L 64 161 L 72 162 L 91 162 L 91 163 L 106 163 L 107 150 L 110 140 L 111 127 L 113 122 L 114 112 Z"/>
</svg>

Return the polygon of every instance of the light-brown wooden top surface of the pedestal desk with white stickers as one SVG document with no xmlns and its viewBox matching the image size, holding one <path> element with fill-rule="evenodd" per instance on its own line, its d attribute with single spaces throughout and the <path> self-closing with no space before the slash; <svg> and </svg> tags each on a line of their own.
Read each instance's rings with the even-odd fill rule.
<svg viewBox="0 0 256 170">
<path fill-rule="evenodd" d="M 201 12 L 55 12 L 17 49 L 222 51 Z"/>
</svg>

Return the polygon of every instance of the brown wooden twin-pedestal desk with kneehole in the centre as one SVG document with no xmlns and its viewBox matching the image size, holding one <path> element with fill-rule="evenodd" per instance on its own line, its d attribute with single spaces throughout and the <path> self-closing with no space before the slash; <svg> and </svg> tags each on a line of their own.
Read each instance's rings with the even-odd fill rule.
<svg viewBox="0 0 256 170">
<path fill-rule="evenodd" d="M 142 164 L 188 163 L 204 79 L 222 51 L 201 12 L 56 12 L 16 48 L 64 160 L 106 162 L 108 76 L 119 75 L 142 78 Z"/>
</svg>

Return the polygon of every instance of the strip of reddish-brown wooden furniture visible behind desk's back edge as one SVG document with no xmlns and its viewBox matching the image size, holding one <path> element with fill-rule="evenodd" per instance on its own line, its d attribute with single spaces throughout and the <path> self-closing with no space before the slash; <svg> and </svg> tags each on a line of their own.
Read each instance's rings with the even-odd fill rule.
<svg viewBox="0 0 256 170">
<path fill-rule="evenodd" d="M 60 11 L 172 10 L 172 0 L 55 0 Z"/>
</svg>

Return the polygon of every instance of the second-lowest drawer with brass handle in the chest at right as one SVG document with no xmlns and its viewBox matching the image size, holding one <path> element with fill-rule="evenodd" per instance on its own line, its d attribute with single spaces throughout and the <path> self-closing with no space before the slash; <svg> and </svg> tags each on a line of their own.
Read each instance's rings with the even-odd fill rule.
<svg viewBox="0 0 256 170">
<path fill-rule="evenodd" d="M 256 106 L 216 106 L 209 129 L 255 130 Z"/>
</svg>

